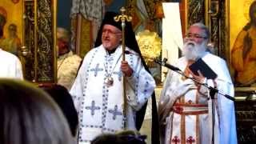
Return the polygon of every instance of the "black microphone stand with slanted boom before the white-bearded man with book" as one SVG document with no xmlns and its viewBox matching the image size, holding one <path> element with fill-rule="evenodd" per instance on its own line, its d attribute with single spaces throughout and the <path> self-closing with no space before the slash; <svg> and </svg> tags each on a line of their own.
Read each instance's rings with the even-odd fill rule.
<svg viewBox="0 0 256 144">
<path fill-rule="evenodd" d="M 211 139 L 211 142 L 212 142 L 212 144 L 214 144 L 214 123 L 215 123 L 215 106 L 214 106 L 214 101 L 213 101 L 215 99 L 214 95 L 215 94 L 220 94 L 220 95 L 230 99 L 231 101 L 234 101 L 235 99 L 233 97 L 231 97 L 230 95 L 228 95 L 228 94 L 223 94 L 222 92 L 220 92 L 215 87 L 208 86 L 207 83 L 198 82 L 195 78 L 187 76 L 186 74 L 184 74 L 182 72 L 182 70 L 178 69 L 178 67 L 171 66 L 170 64 L 166 63 L 166 61 L 167 61 L 167 58 L 163 58 L 163 61 L 161 61 L 157 58 L 154 58 L 154 62 L 158 63 L 159 65 L 165 66 L 168 69 L 173 70 L 176 73 L 181 74 L 183 77 L 189 78 L 189 79 L 193 80 L 194 82 L 196 82 L 197 84 L 199 84 L 200 86 L 205 86 L 208 90 L 210 90 L 209 94 L 210 94 L 210 99 L 211 99 L 211 111 L 212 111 L 212 121 L 213 121 L 212 122 L 212 139 Z"/>
</svg>

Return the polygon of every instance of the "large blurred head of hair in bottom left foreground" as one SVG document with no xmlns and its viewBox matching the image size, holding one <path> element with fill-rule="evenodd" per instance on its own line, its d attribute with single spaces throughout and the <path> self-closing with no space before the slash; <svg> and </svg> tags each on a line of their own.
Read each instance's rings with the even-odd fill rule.
<svg viewBox="0 0 256 144">
<path fill-rule="evenodd" d="M 57 104 L 28 82 L 0 79 L 1 144 L 72 144 Z"/>
</svg>

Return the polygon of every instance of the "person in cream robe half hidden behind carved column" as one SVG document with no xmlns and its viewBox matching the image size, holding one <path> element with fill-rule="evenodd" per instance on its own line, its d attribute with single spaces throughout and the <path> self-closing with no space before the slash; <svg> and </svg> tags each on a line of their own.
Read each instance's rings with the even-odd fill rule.
<svg viewBox="0 0 256 144">
<path fill-rule="evenodd" d="M 62 27 L 57 28 L 57 78 L 58 84 L 65 86 L 70 90 L 73 85 L 74 78 L 78 74 L 78 68 L 81 64 L 82 58 L 74 54 L 70 50 L 70 32 Z"/>
</svg>

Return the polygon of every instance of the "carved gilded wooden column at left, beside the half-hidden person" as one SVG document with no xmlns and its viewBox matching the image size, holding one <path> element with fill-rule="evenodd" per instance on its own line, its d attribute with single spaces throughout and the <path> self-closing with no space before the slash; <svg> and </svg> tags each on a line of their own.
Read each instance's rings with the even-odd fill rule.
<svg viewBox="0 0 256 144">
<path fill-rule="evenodd" d="M 56 82 L 57 0 L 24 2 L 25 78 L 37 83 Z"/>
</svg>

